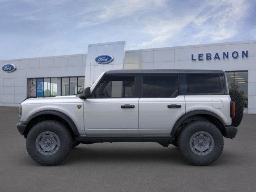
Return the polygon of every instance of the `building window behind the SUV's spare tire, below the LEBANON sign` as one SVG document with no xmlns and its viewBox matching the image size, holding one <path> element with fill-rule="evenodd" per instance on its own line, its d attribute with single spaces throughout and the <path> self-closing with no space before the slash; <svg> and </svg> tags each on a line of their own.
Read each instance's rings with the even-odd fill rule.
<svg viewBox="0 0 256 192">
<path fill-rule="evenodd" d="M 228 88 L 238 90 L 248 107 L 248 71 L 227 71 Z"/>
</svg>

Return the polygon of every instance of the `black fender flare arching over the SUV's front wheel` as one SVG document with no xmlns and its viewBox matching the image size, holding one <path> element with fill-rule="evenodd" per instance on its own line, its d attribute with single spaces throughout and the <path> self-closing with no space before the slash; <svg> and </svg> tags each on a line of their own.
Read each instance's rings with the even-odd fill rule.
<svg viewBox="0 0 256 192">
<path fill-rule="evenodd" d="M 43 110 L 43 111 L 40 111 L 40 112 L 36 112 L 34 113 L 32 116 L 30 116 L 27 120 L 26 120 L 26 123 L 25 124 L 28 124 L 28 122 L 30 122 L 30 120 L 32 120 L 33 118 L 37 117 L 37 116 L 40 116 L 40 115 L 56 115 L 56 116 L 59 116 L 60 118 L 64 119 L 68 125 L 70 126 L 70 128 L 72 129 L 73 133 L 76 135 L 76 136 L 79 136 L 79 133 L 78 133 L 78 130 L 77 130 L 77 127 L 76 127 L 76 124 L 73 122 L 73 120 L 67 116 L 66 114 L 60 112 L 60 111 L 55 111 L 55 110 Z"/>
</svg>

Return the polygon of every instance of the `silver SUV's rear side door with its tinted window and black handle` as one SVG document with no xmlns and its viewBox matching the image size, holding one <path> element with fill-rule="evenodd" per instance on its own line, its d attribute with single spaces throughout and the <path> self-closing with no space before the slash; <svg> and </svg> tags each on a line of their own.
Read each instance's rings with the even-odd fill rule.
<svg viewBox="0 0 256 192">
<path fill-rule="evenodd" d="M 144 75 L 139 100 L 140 135 L 170 135 L 176 120 L 185 113 L 179 95 L 178 75 Z"/>
</svg>

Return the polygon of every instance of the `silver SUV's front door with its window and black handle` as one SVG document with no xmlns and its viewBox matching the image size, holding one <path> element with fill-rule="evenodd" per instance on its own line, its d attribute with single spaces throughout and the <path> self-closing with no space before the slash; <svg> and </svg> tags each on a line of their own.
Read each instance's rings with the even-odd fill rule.
<svg viewBox="0 0 256 192">
<path fill-rule="evenodd" d="M 86 135 L 138 135 L 134 76 L 104 76 L 84 102 Z"/>
</svg>

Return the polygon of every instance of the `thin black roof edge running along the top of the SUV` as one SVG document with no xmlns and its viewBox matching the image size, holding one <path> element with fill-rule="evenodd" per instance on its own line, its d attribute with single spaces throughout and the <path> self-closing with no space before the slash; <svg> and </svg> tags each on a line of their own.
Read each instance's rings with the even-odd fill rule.
<svg viewBox="0 0 256 192">
<path fill-rule="evenodd" d="M 222 70 L 197 70 L 197 69 L 123 69 L 109 70 L 105 74 L 109 75 L 142 75 L 142 74 L 179 74 L 179 73 L 223 73 Z"/>
</svg>

